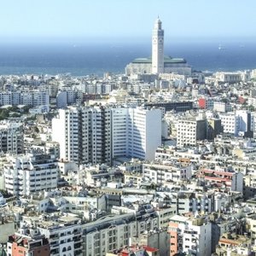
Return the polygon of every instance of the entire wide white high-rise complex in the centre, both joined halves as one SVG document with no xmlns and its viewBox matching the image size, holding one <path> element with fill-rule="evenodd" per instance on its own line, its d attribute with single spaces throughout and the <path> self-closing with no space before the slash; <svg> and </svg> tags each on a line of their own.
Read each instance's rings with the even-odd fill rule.
<svg viewBox="0 0 256 256">
<path fill-rule="evenodd" d="M 52 121 L 60 158 L 78 164 L 107 163 L 113 158 L 153 160 L 161 143 L 160 109 L 70 107 Z"/>
</svg>

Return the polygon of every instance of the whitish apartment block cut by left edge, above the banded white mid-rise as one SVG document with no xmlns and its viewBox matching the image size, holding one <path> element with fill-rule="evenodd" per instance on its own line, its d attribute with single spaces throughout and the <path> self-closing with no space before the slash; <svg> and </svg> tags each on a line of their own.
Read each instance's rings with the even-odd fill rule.
<svg viewBox="0 0 256 256">
<path fill-rule="evenodd" d="M 23 125 L 7 121 L 0 122 L 0 152 L 23 153 Z"/>
</svg>

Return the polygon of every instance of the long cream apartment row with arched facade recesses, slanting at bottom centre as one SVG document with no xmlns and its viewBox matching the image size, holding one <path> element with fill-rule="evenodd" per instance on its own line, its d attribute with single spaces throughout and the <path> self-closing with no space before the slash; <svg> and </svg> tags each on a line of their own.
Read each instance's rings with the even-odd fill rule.
<svg viewBox="0 0 256 256">
<path fill-rule="evenodd" d="M 139 207 L 137 213 L 108 215 L 82 225 L 84 256 L 105 256 L 113 250 L 127 247 L 131 238 L 158 228 L 153 207 Z"/>
</svg>

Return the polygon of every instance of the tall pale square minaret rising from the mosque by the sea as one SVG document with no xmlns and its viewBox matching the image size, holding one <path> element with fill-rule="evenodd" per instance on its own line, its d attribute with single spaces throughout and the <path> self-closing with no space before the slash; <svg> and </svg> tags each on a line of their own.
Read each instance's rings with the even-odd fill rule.
<svg viewBox="0 0 256 256">
<path fill-rule="evenodd" d="M 159 18 L 152 33 L 152 73 L 164 73 L 164 30 Z"/>
</svg>

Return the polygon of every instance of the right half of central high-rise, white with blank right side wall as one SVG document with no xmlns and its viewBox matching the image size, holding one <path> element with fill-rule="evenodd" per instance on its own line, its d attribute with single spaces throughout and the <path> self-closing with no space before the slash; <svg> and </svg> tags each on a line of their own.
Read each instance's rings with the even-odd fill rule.
<svg viewBox="0 0 256 256">
<path fill-rule="evenodd" d="M 112 157 L 154 160 L 161 143 L 160 109 L 113 108 L 111 117 Z"/>
</svg>

